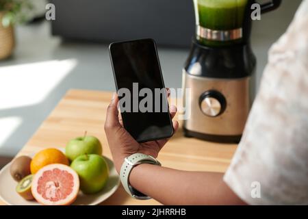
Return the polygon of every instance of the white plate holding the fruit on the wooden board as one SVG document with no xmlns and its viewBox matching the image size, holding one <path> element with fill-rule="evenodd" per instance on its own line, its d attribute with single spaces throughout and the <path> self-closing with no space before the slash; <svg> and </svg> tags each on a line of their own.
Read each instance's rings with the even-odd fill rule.
<svg viewBox="0 0 308 219">
<path fill-rule="evenodd" d="M 120 185 L 120 178 L 114 168 L 114 163 L 107 157 L 104 157 L 109 170 L 109 179 L 101 192 L 97 194 L 86 195 L 79 192 L 73 205 L 98 205 L 112 196 Z M 0 171 L 0 199 L 8 205 L 40 205 L 36 201 L 26 201 L 15 192 L 17 182 L 10 175 L 10 164 L 7 164 Z"/>
</svg>

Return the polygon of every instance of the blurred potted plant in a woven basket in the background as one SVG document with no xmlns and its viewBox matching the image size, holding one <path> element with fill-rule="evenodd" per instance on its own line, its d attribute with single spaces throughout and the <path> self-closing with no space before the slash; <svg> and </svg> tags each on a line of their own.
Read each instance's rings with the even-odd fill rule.
<svg viewBox="0 0 308 219">
<path fill-rule="evenodd" d="M 25 21 L 28 0 L 0 0 L 0 60 L 12 55 L 15 45 L 14 24 Z"/>
</svg>

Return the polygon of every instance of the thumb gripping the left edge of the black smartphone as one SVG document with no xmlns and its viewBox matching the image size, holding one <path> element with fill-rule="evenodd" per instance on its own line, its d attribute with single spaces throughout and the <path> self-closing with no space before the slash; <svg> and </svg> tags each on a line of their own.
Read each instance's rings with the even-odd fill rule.
<svg viewBox="0 0 308 219">
<path fill-rule="evenodd" d="M 112 101 L 107 108 L 105 130 L 114 129 L 114 127 L 121 127 L 118 120 L 118 95 L 116 93 L 113 94 Z"/>
</svg>

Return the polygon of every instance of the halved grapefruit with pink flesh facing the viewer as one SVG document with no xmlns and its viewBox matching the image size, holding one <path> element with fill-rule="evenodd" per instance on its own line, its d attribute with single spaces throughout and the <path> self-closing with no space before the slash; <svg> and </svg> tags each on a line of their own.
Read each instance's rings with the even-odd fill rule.
<svg viewBox="0 0 308 219">
<path fill-rule="evenodd" d="M 79 178 L 69 166 L 49 164 L 34 175 L 31 192 L 42 205 L 70 205 L 77 198 Z"/>
</svg>

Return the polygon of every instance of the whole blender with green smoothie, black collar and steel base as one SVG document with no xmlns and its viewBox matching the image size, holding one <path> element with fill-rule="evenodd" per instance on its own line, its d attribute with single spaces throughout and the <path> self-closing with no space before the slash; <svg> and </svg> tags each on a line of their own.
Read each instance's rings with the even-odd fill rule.
<svg viewBox="0 0 308 219">
<path fill-rule="evenodd" d="M 196 36 L 183 68 L 183 103 L 190 104 L 184 133 L 214 142 L 240 142 L 255 96 L 251 49 L 253 0 L 194 0 Z M 260 5 L 261 13 L 281 0 Z M 187 99 L 187 100 L 186 100 Z"/>
</svg>

